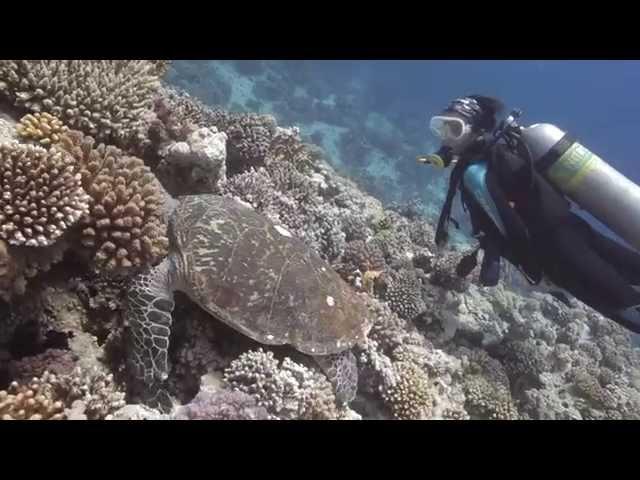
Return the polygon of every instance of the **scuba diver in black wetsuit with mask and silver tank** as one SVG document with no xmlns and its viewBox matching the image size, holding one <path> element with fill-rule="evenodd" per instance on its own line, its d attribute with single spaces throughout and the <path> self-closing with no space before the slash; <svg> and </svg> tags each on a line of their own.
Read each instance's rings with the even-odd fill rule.
<svg viewBox="0 0 640 480">
<path fill-rule="evenodd" d="M 440 149 L 418 161 L 453 166 L 436 230 L 448 239 L 460 191 L 478 248 L 457 268 L 467 276 L 483 259 L 480 282 L 495 286 L 501 258 L 534 285 L 548 280 L 625 328 L 640 333 L 640 253 L 595 230 L 572 209 L 598 218 L 640 248 L 640 187 L 551 124 L 522 127 L 512 111 L 497 125 L 500 101 L 453 100 L 430 128 Z M 456 224 L 457 226 L 457 224 Z"/>
</svg>

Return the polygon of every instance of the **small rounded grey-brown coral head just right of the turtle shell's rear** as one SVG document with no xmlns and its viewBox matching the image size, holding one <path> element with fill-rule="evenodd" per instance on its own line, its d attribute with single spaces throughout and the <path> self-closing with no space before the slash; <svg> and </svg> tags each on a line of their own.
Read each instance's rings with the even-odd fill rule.
<svg viewBox="0 0 640 480">
<path fill-rule="evenodd" d="M 391 271 L 384 279 L 383 297 L 400 317 L 411 320 L 427 309 L 422 300 L 422 284 L 413 270 Z"/>
</svg>

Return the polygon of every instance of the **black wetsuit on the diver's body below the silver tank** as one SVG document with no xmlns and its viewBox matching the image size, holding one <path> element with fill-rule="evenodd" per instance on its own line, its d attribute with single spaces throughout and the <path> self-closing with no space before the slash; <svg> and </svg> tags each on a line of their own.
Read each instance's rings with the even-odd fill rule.
<svg viewBox="0 0 640 480">
<path fill-rule="evenodd" d="M 463 191 L 474 229 L 485 233 L 481 247 L 489 256 L 483 265 L 483 283 L 497 283 L 492 278 L 496 268 L 491 265 L 504 257 L 534 281 L 544 274 L 583 303 L 640 333 L 640 314 L 625 312 L 640 305 L 640 292 L 632 287 L 640 285 L 640 254 L 572 212 L 566 198 L 505 145 L 489 153 L 487 187 L 505 223 L 507 239 Z"/>
</svg>

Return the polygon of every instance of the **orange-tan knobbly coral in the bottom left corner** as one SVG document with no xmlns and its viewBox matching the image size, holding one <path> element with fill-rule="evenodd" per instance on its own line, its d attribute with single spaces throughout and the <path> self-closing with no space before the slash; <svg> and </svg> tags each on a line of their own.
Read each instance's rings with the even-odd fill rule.
<svg viewBox="0 0 640 480">
<path fill-rule="evenodd" d="M 28 384 L 12 382 L 8 390 L 0 391 L 2 420 L 63 420 L 64 403 L 56 398 L 54 375 L 45 372 Z"/>
</svg>

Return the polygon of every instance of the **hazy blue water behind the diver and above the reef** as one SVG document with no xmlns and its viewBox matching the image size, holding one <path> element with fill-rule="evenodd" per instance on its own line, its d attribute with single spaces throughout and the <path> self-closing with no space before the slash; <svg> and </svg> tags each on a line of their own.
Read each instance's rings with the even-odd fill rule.
<svg viewBox="0 0 640 480">
<path fill-rule="evenodd" d="M 370 193 L 420 197 L 431 218 L 447 174 L 415 157 L 437 146 L 429 117 L 469 93 L 521 108 L 523 124 L 558 125 L 640 183 L 638 61 L 179 61 L 169 80 L 209 104 L 298 125 Z"/>
</svg>

